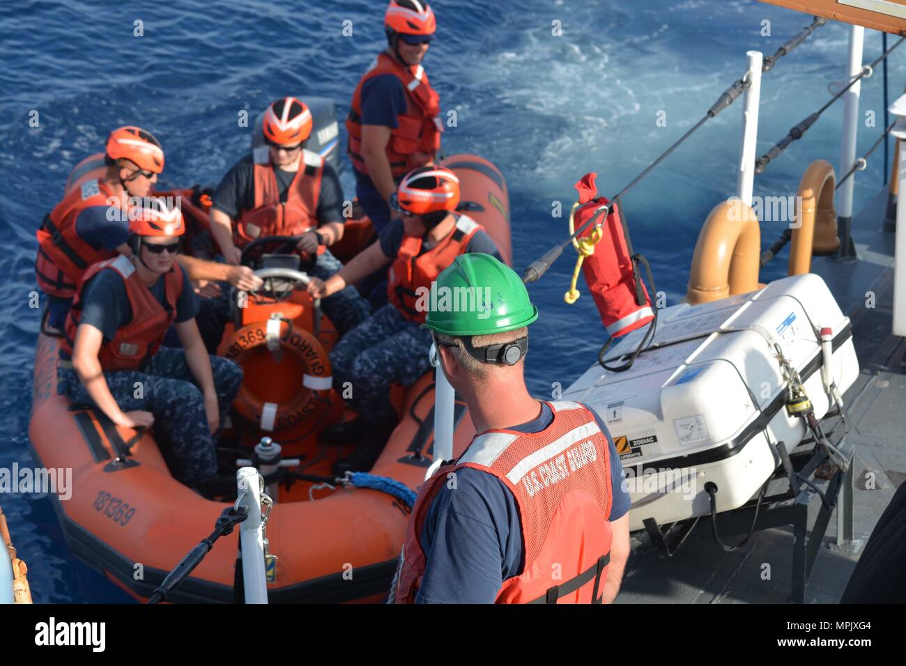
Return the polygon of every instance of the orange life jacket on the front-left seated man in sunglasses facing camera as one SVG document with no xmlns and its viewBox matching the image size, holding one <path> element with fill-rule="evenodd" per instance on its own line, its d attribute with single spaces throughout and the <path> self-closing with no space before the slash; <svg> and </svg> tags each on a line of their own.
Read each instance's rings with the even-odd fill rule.
<svg viewBox="0 0 906 666">
<path fill-rule="evenodd" d="M 144 364 L 158 351 L 169 325 L 176 320 L 176 305 L 179 294 L 182 294 L 182 270 L 174 266 L 164 275 L 164 294 L 167 307 L 161 307 L 154 294 L 141 281 L 135 265 L 128 256 L 117 256 L 92 265 L 82 278 L 79 293 L 72 302 L 72 308 L 66 315 L 66 326 L 63 331 L 64 354 L 72 356 L 76 329 L 82 318 L 82 287 L 94 275 L 105 268 L 116 271 L 126 284 L 126 295 L 132 309 L 132 321 L 120 327 L 109 343 L 101 345 L 98 360 L 104 372 L 121 370 L 141 370 Z"/>
</svg>

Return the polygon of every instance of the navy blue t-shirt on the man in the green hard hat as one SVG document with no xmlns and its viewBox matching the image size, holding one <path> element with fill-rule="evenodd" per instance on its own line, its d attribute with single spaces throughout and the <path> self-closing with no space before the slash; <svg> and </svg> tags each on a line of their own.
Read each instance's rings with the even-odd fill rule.
<svg viewBox="0 0 906 666">
<path fill-rule="evenodd" d="M 540 432 L 553 420 L 550 407 L 542 403 L 535 420 L 507 430 Z M 597 414 L 595 420 L 610 451 L 613 522 L 629 511 L 631 502 L 610 432 Z M 494 603 L 504 581 L 522 573 L 516 497 L 499 478 L 478 469 L 459 469 L 456 481 L 455 492 L 444 484 L 429 507 L 421 533 L 428 566 L 415 603 Z"/>
</svg>

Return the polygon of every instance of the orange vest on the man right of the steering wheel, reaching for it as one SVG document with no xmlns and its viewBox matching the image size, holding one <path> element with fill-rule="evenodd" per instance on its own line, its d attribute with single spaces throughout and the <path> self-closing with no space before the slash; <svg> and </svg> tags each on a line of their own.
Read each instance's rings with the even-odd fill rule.
<svg viewBox="0 0 906 666">
<path fill-rule="evenodd" d="M 390 266 L 387 296 L 403 317 L 410 322 L 425 323 L 425 316 L 428 314 L 426 309 L 419 310 L 416 307 L 419 296 L 429 294 L 431 283 L 438 279 L 438 275 L 456 257 L 466 252 L 472 236 L 482 228 L 484 227 L 471 217 L 460 215 L 456 227 L 438 245 L 421 256 L 422 237 L 402 237 L 400 252 Z"/>
</svg>

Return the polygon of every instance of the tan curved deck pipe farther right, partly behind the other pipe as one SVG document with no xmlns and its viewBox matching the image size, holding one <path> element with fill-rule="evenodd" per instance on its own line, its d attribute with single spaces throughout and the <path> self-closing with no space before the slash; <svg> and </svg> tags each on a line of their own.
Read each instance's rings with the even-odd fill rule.
<svg viewBox="0 0 906 666">
<path fill-rule="evenodd" d="M 826 159 L 817 159 L 805 169 L 796 195 L 802 202 L 798 211 L 801 219 L 790 240 L 787 275 L 811 273 L 813 254 L 834 255 L 840 247 L 834 208 L 836 181 L 834 167 Z"/>
</svg>

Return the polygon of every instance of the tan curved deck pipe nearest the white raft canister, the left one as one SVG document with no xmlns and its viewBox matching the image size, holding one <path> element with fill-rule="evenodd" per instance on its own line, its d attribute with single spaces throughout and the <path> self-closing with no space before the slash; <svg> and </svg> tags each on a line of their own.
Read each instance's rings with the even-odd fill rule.
<svg viewBox="0 0 906 666">
<path fill-rule="evenodd" d="M 755 211 L 738 198 L 720 202 L 695 244 L 686 300 L 709 303 L 756 290 L 760 253 L 761 229 Z"/>
</svg>

